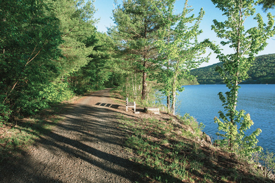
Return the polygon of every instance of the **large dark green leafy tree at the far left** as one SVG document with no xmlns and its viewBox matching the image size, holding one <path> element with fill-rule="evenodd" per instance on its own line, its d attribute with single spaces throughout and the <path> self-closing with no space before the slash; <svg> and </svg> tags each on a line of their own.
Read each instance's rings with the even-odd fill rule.
<svg viewBox="0 0 275 183">
<path fill-rule="evenodd" d="M 59 20 L 38 0 L 0 1 L 0 121 L 26 110 L 56 72 L 62 43 Z"/>
</svg>

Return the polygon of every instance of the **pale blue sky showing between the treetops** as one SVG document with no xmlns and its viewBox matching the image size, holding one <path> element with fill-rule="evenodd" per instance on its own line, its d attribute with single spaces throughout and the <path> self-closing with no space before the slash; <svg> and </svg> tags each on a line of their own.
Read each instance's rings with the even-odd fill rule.
<svg viewBox="0 0 275 183">
<path fill-rule="evenodd" d="M 117 0 L 117 2 L 120 4 L 122 0 Z M 180 13 L 184 7 L 185 0 L 176 0 L 175 2 L 175 10 L 176 13 Z M 112 20 L 112 10 L 115 8 L 114 1 L 113 0 L 95 0 L 95 8 L 97 9 L 97 12 L 95 13 L 94 17 L 96 19 L 100 19 L 98 23 L 96 23 L 96 27 L 99 32 L 107 32 L 107 29 L 113 24 Z M 220 39 L 217 38 L 216 33 L 211 30 L 211 25 L 213 25 L 213 20 L 217 19 L 218 21 L 224 21 L 226 19 L 225 16 L 222 16 L 222 12 L 220 9 L 216 8 L 215 5 L 211 0 L 189 0 L 188 5 L 192 6 L 194 10 L 192 11 L 192 14 L 198 15 L 201 8 L 204 9 L 205 15 L 203 17 L 203 20 L 200 24 L 200 28 L 203 30 L 203 33 L 199 36 L 199 41 L 203 41 L 204 39 L 210 39 L 210 41 L 216 42 L 216 44 L 220 44 Z M 275 9 L 270 10 L 275 15 Z M 267 23 L 267 13 L 262 10 L 261 6 L 256 7 L 256 13 L 260 13 L 265 21 Z M 191 15 L 191 14 L 190 14 Z M 254 16 L 253 16 L 254 17 Z M 245 22 L 245 27 L 250 28 L 256 26 L 256 21 L 253 20 L 253 17 L 249 18 Z M 228 46 L 224 47 L 221 46 L 223 49 L 223 53 L 229 54 L 233 53 L 233 50 L 229 48 Z M 208 53 L 210 53 L 211 50 L 208 50 Z M 259 52 L 258 55 L 263 54 L 271 54 L 275 53 L 275 37 L 268 40 L 268 46 L 261 52 Z M 212 65 L 214 63 L 218 63 L 219 60 L 216 58 L 216 54 L 212 53 L 210 56 L 210 60 L 208 63 L 203 63 L 200 67 L 205 67 L 208 65 Z"/>
</svg>

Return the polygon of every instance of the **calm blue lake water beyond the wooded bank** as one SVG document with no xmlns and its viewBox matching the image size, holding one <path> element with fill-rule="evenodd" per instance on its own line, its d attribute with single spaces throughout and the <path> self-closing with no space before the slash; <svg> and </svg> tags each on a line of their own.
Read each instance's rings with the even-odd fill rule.
<svg viewBox="0 0 275 183">
<path fill-rule="evenodd" d="M 275 152 L 275 85 L 240 85 L 237 110 L 250 114 L 254 125 L 249 135 L 257 128 L 262 130 L 258 136 L 258 145 Z M 199 123 L 205 125 L 204 132 L 217 139 L 218 124 L 214 117 L 223 110 L 219 92 L 226 92 L 225 85 L 191 85 L 184 86 L 185 91 L 178 96 L 177 113 L 189 113 Z"/>
</svg>

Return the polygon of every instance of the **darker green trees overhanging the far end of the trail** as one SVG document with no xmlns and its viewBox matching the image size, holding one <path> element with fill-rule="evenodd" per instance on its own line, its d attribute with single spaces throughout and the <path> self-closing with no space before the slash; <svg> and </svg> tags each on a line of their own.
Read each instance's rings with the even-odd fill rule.
<svg viewBox="0 0 275 183">
<path fill-rule="evenodd" d="M 94 33 L 85 42 L 85 45 L 94 46 L 88 63 L 71 74 L 70 86 L 78 94 L 89 90 L 97 90 L 109 84 L 114 86 L 117 81 L 115 74 L 118 72 L 115 60 L 114 41 L 102 33 Z"/>
</svg>

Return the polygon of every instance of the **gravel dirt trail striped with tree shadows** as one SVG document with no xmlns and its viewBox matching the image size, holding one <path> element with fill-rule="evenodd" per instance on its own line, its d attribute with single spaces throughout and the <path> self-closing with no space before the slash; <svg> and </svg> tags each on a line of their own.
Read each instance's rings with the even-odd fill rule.
<svg viewBox="0 0 275 183">
<path fill-rule="evenodd" d="M 3 183 L 132 183 L 138 181 L 131 156 L 123 148 L 110 89 L 94 92 L 63 112 L 64 120 L 24 155 L 1 169 Z M 3 168 L 3 167 L 2 167 Z"/>
</svg>

